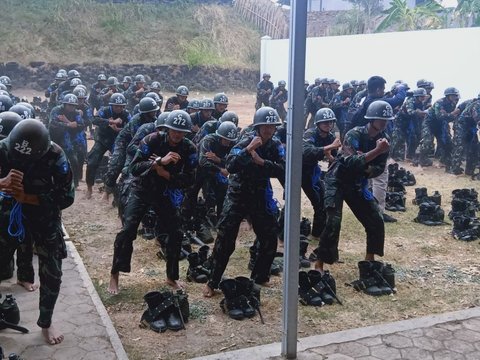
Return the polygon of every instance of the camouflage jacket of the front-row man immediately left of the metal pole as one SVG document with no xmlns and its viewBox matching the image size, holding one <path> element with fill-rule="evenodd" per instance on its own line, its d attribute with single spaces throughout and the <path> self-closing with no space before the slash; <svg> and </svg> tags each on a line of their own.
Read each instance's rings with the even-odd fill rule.
<svg viewBox="0 0 480 360">
<path fill-rule="evenodd" d="M 245 135 L 227 156 L 230 191 L 264 194 L 265 189 L 270 186 L 270 178 L 285 178 L 285 148 L 282 143 L 272 138 L 256 149 L 257 154 L 265 160 L 265 164 L 260 166 L 253 162 L 251 155 L 245 150 L 254 136 L 255 133 Z"/>
</svg>

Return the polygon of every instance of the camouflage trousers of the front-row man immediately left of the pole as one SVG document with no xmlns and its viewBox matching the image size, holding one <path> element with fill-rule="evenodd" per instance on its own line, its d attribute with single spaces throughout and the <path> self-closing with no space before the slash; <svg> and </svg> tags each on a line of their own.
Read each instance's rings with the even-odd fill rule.
<svg viewBox="0 0 480 360">
<path fill-rule="evenodd" d="M 270 279 L 277 249 L 278 208 L 269 209 L 265 195 L 259 191 L 245 194 L 229 188 L 223 204 L 223 212 L 217 225 L 217 239 L 211 255 L 212 273 L 208 285 L 218 288 L 230 256 L 235 250 L 235 242 L 240 223 L 247 216 L 252 221 L 253 231 L 258 238 L 257 260 L 250 277 L 257 283 L 265 283 Z"/>
</svg>

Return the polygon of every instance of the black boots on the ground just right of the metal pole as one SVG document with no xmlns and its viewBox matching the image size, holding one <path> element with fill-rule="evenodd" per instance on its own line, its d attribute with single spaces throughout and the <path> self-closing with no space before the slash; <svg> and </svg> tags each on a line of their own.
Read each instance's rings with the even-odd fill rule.
<svg viewBox="0 0 480 360">
<path fill-rule="evenodd" d="M 298 295 L 302 305 L 323 306 L 332 305 L 337 297 L 335 279 L 328 270 L 322 274 L 318 270 L 300 271 L 298 273 Z"/>
</svg>

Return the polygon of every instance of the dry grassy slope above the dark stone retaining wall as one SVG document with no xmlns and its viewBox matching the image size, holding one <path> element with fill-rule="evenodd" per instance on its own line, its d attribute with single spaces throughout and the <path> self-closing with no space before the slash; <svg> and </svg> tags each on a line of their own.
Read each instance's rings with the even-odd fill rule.
<svg viewBox="0 0 480 360">
<path fill-rule="evenodd" d="M 14 19 L 14 21 L 12 21 Z M 261 34 L 231 6 L 4 0 L 3 61 L 257 68 Z M 59 60 L 60 59 L 60 60 Z"/>
</svg>

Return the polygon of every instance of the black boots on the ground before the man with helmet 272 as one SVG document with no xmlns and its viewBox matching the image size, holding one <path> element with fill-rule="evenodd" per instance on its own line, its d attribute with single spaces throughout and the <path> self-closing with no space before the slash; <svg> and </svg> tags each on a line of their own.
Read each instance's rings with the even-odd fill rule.
<svg viewBox="0 0 480 360">
<path fill-rule="evenodd" d="M 167 329 L 178 331 L 185 329 L 190 316 L 188 296 L 183 290 L 151 291 L 143 297 L 147 310 L 143 312 L 140 324 L 156 332 Z"/>
</svg>

